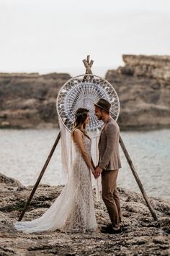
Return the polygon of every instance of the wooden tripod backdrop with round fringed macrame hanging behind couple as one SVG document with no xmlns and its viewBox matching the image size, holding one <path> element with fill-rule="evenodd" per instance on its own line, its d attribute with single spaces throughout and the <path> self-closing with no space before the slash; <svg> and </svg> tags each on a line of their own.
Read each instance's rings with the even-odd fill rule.
<svg viewBox="0 0 170 256">
<path fill-rule="evenodd" d="M 91 152 L 94 160 L 94 164 L 97 163 L 98 160 L 98 138 L 99 133 L 102 129 L 102 121 L 98 121 L 96 116 L 94 115 L 94 103 L 96 103 L 99 98 L 104 98 L 111 103 L 111 115 L 112 118 L 117 121 L 117 118 L 120 114 L 120 101 L 118 95 L 115 91 L 115 88 L 102 77 L 98 77 L 97 75 L 92 74 L 91 67 L 94 61 L 90 61 L 90 56 L 87 56 L 86 59 L 83 60 L 84 66 L 86 68 L 86 73 L 83 75 L 79 75 L 71 78 L 68 82 L 63 85 L 61 90 L 58 93 L 57 98 L 57 111 L 58 111 L 58 120 L 60 124 L 60 132 L 58 137 L 55 140 L 53 148 L 50 150 L 47 160 L 40 172 L 39 177 L 37 178 L 37 182 L 32 189 L 30 197 L 24 205 L 21 215 L 19 216 L 19 221 L 22 220 L 25 211 L 27 210 L 30 201 L 32 200 L 33 195 L 37 189 L 40 180 L 45 172 L 45 169 L 50 162 L 50 158 L 53 155 L 53 152 L 58 145 L 58 141 L 61 138 L 61 155 L 62 155 L 62 163 L 63 163 L 63 171 L 66 175 L 71 175 L 71 166 L 73 162 L 73 145 L 71 140 L 71 129 L 73 127 L 73 116 L 77 108 L 89 108 L 90 115 L 90 123 L 88 126 L 88 132 L 92 138 Z M 148 196 L 146 195 L 145 189 L 143 188 L 143 184 L 140 182 L 137 172 L 135 171 L 135 167 L 133 166 L 133 162 L 128 154 L 128 150 L 125 148 L 125 144 L 122 141 L 122 137 L 120 136 L 120 146 L 122 148 L 123 153 L 125 154 L 125 158 L 127 159 L 130 169 L 133 172 L 133 176 L 135 177 L 136 182 L 138 183 L 138 187 L 143 194 L 144 199 L 146 200 L 146 205 L 148 206 L 151 215 L 153 216 L 155 221 L 158 221 L 155 211 L 151 203 L 148 200 Z M 99 194 L 99 182 L 96 186 Z"/>
</svg>

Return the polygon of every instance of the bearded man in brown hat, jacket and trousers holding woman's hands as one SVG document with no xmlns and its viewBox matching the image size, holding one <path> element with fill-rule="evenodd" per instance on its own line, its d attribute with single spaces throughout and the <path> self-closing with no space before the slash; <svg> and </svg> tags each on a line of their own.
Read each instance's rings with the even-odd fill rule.
<svg viewBox="0 0 170 256">
<path fill-rule="evenodd" d="M 120 199 L 117 195 L 117 174 L 121 168 L 119 154 L 120 129 L 109 114 L 111 104 L 100 98 L 94 103 L 95 116 L 104 121 L 99 137 L 99 163 L 95 170 L 98 178 L 102 174 L 102 199 L 107 207 L 111 224 L 102 227 L 102 233 L 119 234 L 122 229 Z"/>
</svg>

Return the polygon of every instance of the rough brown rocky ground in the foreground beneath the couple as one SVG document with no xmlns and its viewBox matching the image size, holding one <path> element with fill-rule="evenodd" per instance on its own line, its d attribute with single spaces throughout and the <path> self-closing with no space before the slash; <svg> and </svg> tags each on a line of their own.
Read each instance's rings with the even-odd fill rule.
<svg viewBox="0 0 170 256">
<path fill-rule="evenodd" d="M 122 204 L 122 234 L 65 234 L 60 231 L 22 234 L 15 231 L 14 221 L 21 213 L 32 187 L 24 187 L 0 174 L 0 255 L 169 255 L 170 202 L 150 197 L 159 225 L 151 217 L 143 197 L 119 188 Z M 24 216 L 37 218 L 60 195 L 62 187 L 40 185 Z M 97 223 L 108 222 L 102 202 L 95 202 Z"/>
</svg>

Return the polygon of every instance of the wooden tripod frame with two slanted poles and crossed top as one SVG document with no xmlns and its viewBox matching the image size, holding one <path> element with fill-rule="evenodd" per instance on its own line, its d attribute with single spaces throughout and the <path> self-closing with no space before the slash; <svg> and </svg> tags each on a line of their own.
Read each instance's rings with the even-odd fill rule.
<svg viewBox="0 0 170 256">
<path fill-rule="evenodd" d="M 90 56 L 88 55 L 87 58 L 83 60 L 83 63 L 84 63 L 84 66 L 86 68 L 86 72 L 85 72 L 85 75 L 84 75 L 84 78 L 86 78 L 86 77 L 88 77 L 88 74 L 92 74 L 91 67 L 92 67 L 92 64 L 94 63 L 94 61 L 93 60 L 90 61 Z M 37 182 L 35 183 L 35 186 L 32 189 L 30 197 L 28 198 L 27 202 L 24 205 L 24 208 L 22 210 L 21 215 L 19 216 L 19 220 L 18 221 L 22 221 L 24 213 L 27 210 L 28 205 L 30 204 L 33 195 L 35 194 L 37 186 L 40 184 L 40 180 L 42 179 L 42 176 L 45 173 L 45 170 L 46 170 L 46 168 L 48 166 L 48 163 L 50 162 L 50 159 L 51 159 L 51 157 L 52 157 L 52 155 L 53 155 L 53 153 L 55 151 L 56 146 L 58 145 L 58 141 L 60 140 L 60 138 L 61 138 L 61 132 L 58 133 L 58 137 L 55 140 L 53 148 L 50 150 L 48 158 L 45 161 L 45 164 L 44 164 L 44 166 L 42 168 L 42 171 L 40 172 L 40 175 L 37 178 Z M 142 195 L 143 195 L 144 199 L 146 200 L 146 205 L 148 206 L 148 208 L 149 208 L 149 210 L 151 212 L 151 215 L 153 216 L 153 219 L 155 221 L 158 221 L 158 218 L 156 216 L 156 212 L 155 212 L 155 210 L 153 210 L 153 207 L 152 207 L 151 203 L 148 200 L 148 196 L 146 195 L 146 191 L 143 188 L 143 184 L 140 182 L 139 176 L 138 176 L 137 172 L 135 171 L 135 167 L 133 166 L 133 162 L 132 162 L 132 160 L 130 158 L 130 155 L 128 154 L 128 150 L 125 148 L 125 144 L 123 143 L 121 136 L 120 136 L 120 146 L 122 148 L 123 153 L 125 154 L 125 158 L 127 159 L 128 163 L 129 163 L 130 169 L 133 172 L 133 176 L 135 177 L 135 180 L 138 183 L 138 187 L 140 188 L 140 191 L 142 192 Z"/>
</svg>

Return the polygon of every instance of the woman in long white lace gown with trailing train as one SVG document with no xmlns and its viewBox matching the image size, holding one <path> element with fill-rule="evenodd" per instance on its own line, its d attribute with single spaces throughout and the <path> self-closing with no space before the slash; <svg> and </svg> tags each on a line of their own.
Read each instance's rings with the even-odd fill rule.
<svg viewBox="0 0 170 256">
<path fill-rule="evenodd" d="M 91 170 L 95 176 L 95 167 L 91 158 L 91 139 L 86 132 L 86 125 L 89 124 L 88 113 L 88 109 L 78 108 L 75 114 L 71 138 L 76 155 L 71 178 L 61 195 L 40 218 L 14 223 L 17 230 L 33 233 L 55 229 L 79 232 L 97 229 L 90 174 Z"/>
</svg>

